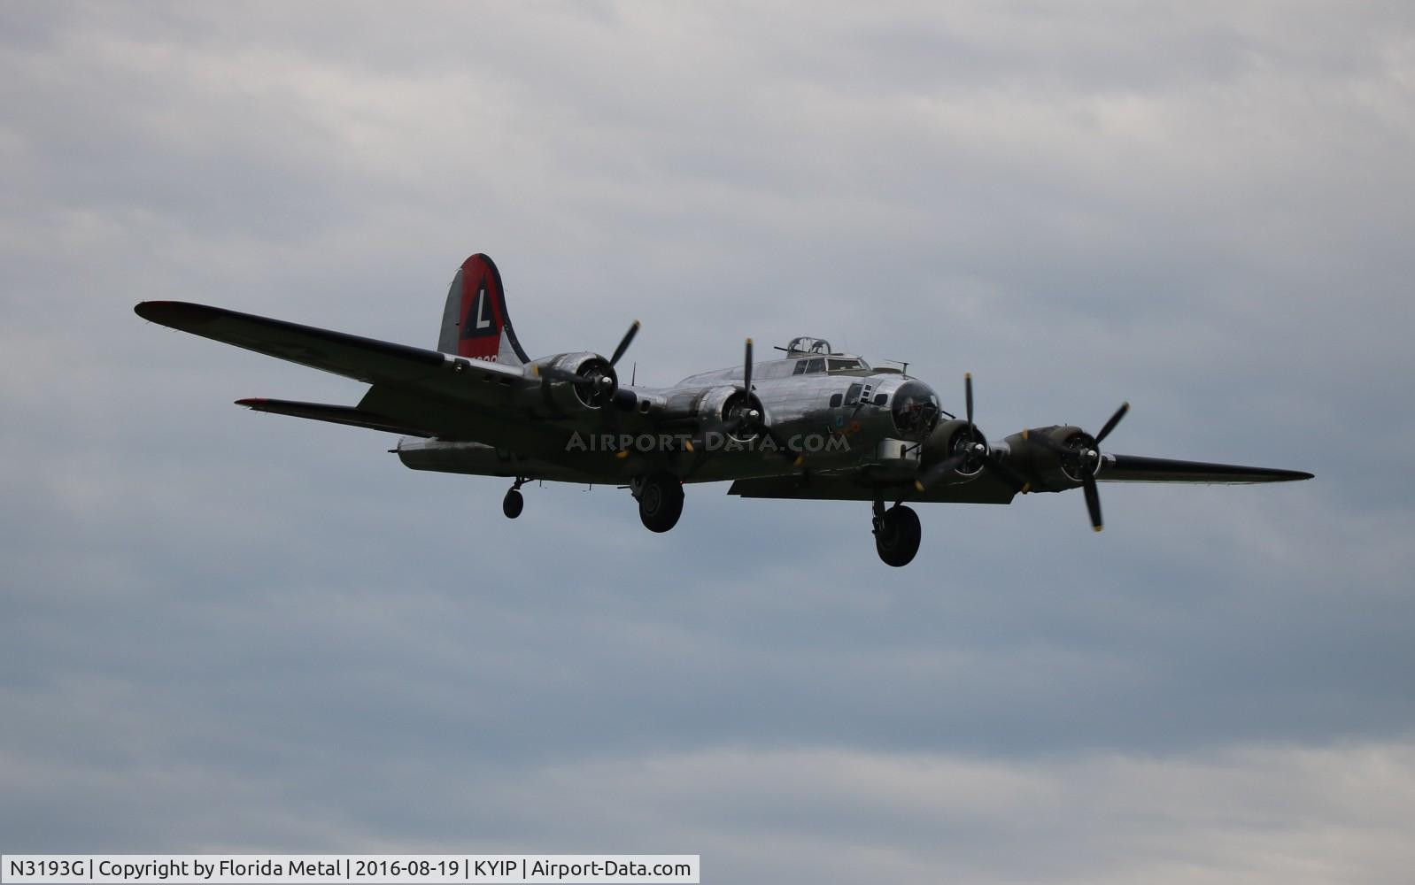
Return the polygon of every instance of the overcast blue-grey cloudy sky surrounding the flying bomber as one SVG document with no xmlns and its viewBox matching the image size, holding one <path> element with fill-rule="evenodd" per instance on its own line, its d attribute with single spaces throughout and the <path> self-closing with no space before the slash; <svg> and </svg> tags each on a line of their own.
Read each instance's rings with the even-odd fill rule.
<svg viewBox="0 0 1415 885">
<path fill-rule="evenodd" d="M 869 8 L 866 8 L 866 6 Z M 1166 8 L 1173 7 L 1173 8 Z M 1415 868 L 1409 3 L 0 4 L 0 850 L 705 882 Z M 412 472 L 231 404 L 487 252 L 644 383 L 822 335 L 990 435 L 1307 469 L 923 506 Z"/>
</svg>

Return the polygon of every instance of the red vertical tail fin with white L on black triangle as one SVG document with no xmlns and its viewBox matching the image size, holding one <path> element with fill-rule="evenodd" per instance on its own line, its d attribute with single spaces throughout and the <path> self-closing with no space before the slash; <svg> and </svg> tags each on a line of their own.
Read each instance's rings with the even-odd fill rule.
<svg viewBox="0 0 1415 885">
<path fill-rule="evenodd" d="M 507 314 L 501 271 L 480 252 L 463 262 L 451 280 L 437 349 L 512 366 L 531 362 Z"/>
</svg>

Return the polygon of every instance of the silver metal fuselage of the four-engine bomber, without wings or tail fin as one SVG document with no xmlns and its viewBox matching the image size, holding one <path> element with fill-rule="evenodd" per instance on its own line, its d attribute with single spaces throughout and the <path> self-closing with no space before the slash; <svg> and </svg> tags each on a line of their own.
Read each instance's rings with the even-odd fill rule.
<svg viewBox="0 0 1415 885">
<path fill-rule="evenodd" d="M 535 361 L 526 369 L 563 356 Z M 737 366 L 693 375 L 671 387 L 624 385 L 635 406 L 627 411 L 603 409 L 613 431 L 586 434 L 583 413 L 558 416 L 545 407 L 546 397 L 525 404 L 521 420 L 507 423 L 502 413 L 501 421 L 488 423 L 485 435 L 478 434 L 481 438 L 403 437 L 395 451 L 413 469 L 611 485 L 659 471 L 683 482 L 780 476 L 792 464 L 808 465 L 815 475 L 850 472 L 883 482 L 914 476 L 927 428 L 900 428 L 891 409 L 904 385 L 911 393 L 932 396 L 932 390 L 894 370 L 794 373 L 804 362 L 787 358 L 753 365 L 753 393 L 771 437 L 784 445 L 703 431 L 705 411 L 740 392 L 743 372 Z M 672 416 L 682 416 L 681 433 L 674 430 Z"/>
</svg>

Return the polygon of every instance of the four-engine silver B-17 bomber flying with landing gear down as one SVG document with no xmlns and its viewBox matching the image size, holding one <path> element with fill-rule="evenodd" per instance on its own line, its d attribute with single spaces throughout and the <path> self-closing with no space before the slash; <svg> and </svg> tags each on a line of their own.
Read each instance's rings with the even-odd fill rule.
<svg viewBox="0 0 1415 885">
<path fill-rule="evenodd" d="M 907 366 L 872 368 L 819 338 L 782 356 L 685 377 L 672 387 L 623 383 L 618 365 L 638 322 L 610 356 L 531 359 L 507 312 L 501 273 L 485 254 L 463 262 L 443 310 L 437 349 L 413 348 L 181 301 L 144 301 L 139 317 L 369 385 L 357 406 L 242 399 L 239 406 L 400 434 L 413 469 L 512 479 L 515 519 L 529 481 L 628 488 L 651 532 L 668 532 L 686 483 L 732 481 L 730 495 L 870 502 L 879 557 L 918 551 L 910 503 L 1010 503 L 1017 493 L 1081 489 L 1101 530 L 1098 482 L 1248 483 L 1312 474 L 1101 451 L 1129 410 L 1101 430 L 1033 427 L 989 440 L 964 406 L 945 411 Z M 961 414 L 959 414 L 961 413 Z"/>
</svg>

